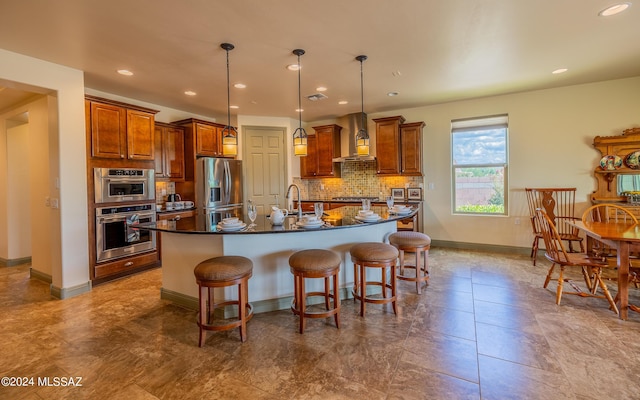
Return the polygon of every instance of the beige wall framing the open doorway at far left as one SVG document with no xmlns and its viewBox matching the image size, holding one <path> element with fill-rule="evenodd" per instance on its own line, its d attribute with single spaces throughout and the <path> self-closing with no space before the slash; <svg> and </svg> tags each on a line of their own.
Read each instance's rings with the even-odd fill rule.
<svg viewBox="0 0 640 400">
<path fill-rule="evenodd" d="M 76 288 L 85 290 L 89 264 L 83 73 L 0 49 L 0 79 L 51 93 L 46 104 L 37 106 L 44 115 L 42 126 L 49 140 L 49 168 L 42 187 L 50 197 L 59 199 L 60 208 L 47 208 L 47 216 L 37 222 L 48 225 L 44 229 L 49 230 L 51 247 L 46 251 L 46 262 L 53 287 L 62 296 Z M 30 124 L 33 121 L 30 114 Z M 2 158 L 6 160 L 6 154 Z M 42 197 L 34 199 L 42 201 Z M 34 248 L 37 245 L 33 243 Z"/>
</svg>

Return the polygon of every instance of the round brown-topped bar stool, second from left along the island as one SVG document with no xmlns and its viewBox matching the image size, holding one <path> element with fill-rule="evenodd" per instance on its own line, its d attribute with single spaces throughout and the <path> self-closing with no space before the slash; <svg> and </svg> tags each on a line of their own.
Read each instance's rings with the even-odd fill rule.
<svg viewBox="0 0 640 400">
<path fill-rule="evenodd" d="M 336 328 L 340 329 L 340 287 L 338 271 L 340 257 L 330 250 L 310 249 L 297 251 L 289 257 L 289 266 L 293 274 L 293 302 L 291 311 L 300 316 L 300 333 L 304 333 L 306 318 L 327 318 L 333 315 Z M 324 278 L 323 292 L 305 292 L 305 278 Z M 333 278 L 333 294 L 330 281 Z M 322 296 L 326 311 L 308 311 L 307 297 Z M 329 299 L 333 298 L 333 307 Z"/>
</svg>

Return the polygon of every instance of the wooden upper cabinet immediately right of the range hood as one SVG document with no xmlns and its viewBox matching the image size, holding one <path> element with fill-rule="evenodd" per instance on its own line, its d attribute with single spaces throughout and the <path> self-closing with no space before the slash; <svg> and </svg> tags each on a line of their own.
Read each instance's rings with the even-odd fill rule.
<svg viewBox="0 0 640 400">
<path fill-rule="evenodd" d="M 404 117 L 376 118 L 378 175 L 422 176 L 422 128 L 424 122 L 405 124 Z"/>
</svg>

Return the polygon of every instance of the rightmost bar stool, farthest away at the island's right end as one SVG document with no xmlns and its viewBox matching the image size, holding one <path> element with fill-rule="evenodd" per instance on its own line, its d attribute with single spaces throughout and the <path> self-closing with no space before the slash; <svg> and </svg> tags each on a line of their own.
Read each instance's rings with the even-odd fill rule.
<svg viewBox="0 0 640 400">
<path fill-rule="evenodd" d="M 396 232 L 389 236 L 389 243 L 396 247 L 400 251 L 400 273 L 397 275 L 398 279 L 404 281 L 411 281 L 416 283 L 416 290 L 418 294 L 422 293 L 422 282 L 427 283 L 429 281 L 429 249 L 431 248 L 431 238 L 424 233 L 402 231 Z M 404 252 L 416 254 L 416 265 L 404 264 Z M 424 256 L 424 263 L 420 266 L 420 253 Z M 404 274 L 405 268 L 412 268 L 416 270 L 415 276 L 409 276 Z"/>
</svg>

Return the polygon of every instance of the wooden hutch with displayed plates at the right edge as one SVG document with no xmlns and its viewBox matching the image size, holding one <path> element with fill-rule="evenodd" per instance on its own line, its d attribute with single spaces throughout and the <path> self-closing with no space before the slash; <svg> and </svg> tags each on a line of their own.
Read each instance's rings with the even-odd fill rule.
<svg viewBox="0 0 640 400">
<path fill-rule="evenodd" d="M 594 171 L 598 187 L 591 201 L 622 203 L 640 215 L 640 128 L 626 129 L 619 136 L 596 136 L 593 147 L 602 158 Z"/>
</svg>

